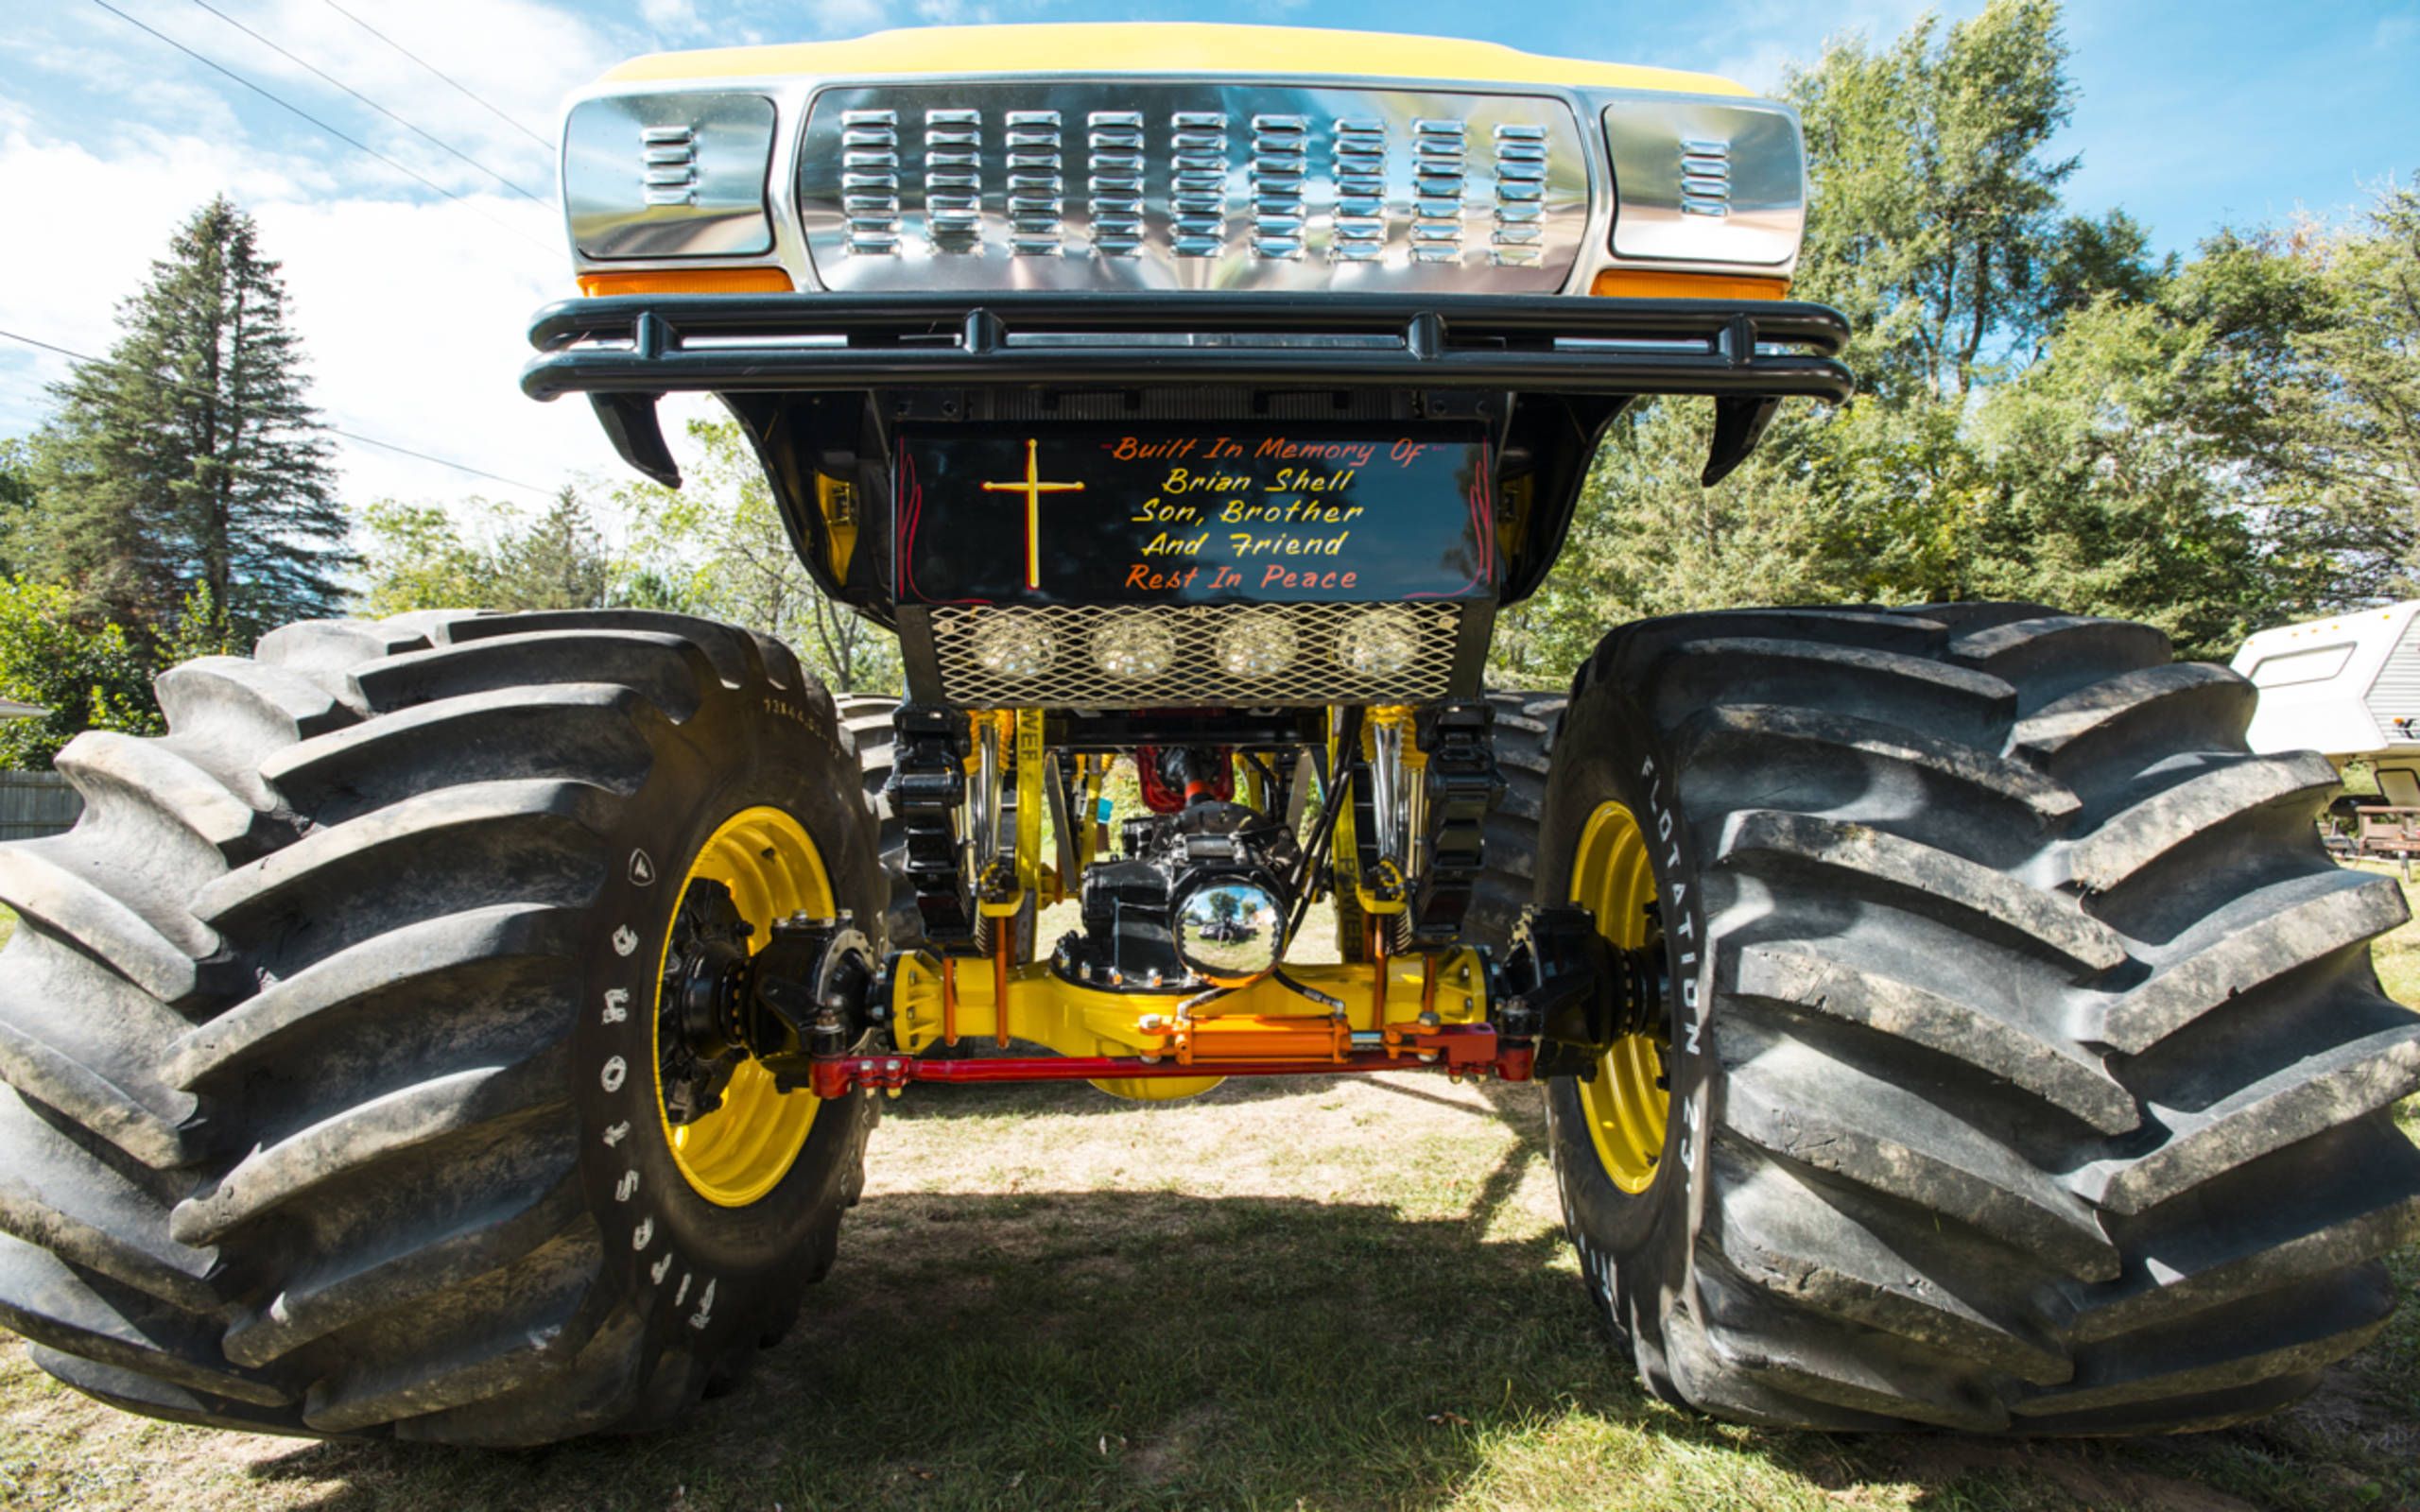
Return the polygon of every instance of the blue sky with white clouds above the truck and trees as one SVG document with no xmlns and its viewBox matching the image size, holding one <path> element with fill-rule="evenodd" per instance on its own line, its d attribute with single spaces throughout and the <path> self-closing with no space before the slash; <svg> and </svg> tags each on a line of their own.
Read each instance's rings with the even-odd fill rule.
<svg viewBox="0 0 2420 1512">
<path fill-rule="evenodd" d="M 111 310 L 169 227 L 213 191 L 261 218 L 286 259 L 317 399 L 346 431 L 528 484 L 617 477 L 576 404 L 520 399 L 530 310 L 566 293 L 549 210 L 443 155 L 213 15 L 201 0 L 109 0 L 450 189 L 445 198 L 310 128 L 94 0 L 17 0 L 0 22 L 0 329 L 104 351 Z M 728 41 L 854 36 L 937 22 L 1229 19 L 1425 31 L 1542 53 L 1663 63 L 1779 85 L 1827 36 L 1883 41 L 1924 10 L 1977 0 L 208 0 L 378 104 L 544 196 L 561 94 L 622 56 Z M 2072 0 L 2079 85 L 2064 152 L 2079 210 L 2122 206 L 2156 244 L 2340 215 L 2420 172 L 2420 0 L 2391 5 Z M 496 114 L 501 111 L 501 114 Z M 31 428 L 63 360 L 0 341 L 0 435 Z M 499 484 L 358 443 L 346 494 L 457 498 Z"/>
</svg>

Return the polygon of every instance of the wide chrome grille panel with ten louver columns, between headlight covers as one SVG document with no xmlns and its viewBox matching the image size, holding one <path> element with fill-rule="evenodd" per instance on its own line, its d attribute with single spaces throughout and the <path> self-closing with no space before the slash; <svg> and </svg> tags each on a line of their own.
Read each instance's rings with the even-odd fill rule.
<svg viewBox="0 0 2420 1512">
<path fill-rule="evenodd" d="M 1588 223 L 1561 99 L 1181 80 L 840 85 L 799 152 L 837 290 L 1551 293 Z"/>
</svg>

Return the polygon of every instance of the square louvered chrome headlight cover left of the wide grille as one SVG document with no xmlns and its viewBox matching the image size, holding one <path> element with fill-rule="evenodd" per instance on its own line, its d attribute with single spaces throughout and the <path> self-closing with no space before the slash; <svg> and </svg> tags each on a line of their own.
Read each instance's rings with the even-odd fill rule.
<svg viewBox="0 0 2420 1512">
<path fill-rule="evenodd" d="M 564 215 L 583 256 L 772 252 L 762 94 L 607 94 L 564 121 Z"/>
</svg>

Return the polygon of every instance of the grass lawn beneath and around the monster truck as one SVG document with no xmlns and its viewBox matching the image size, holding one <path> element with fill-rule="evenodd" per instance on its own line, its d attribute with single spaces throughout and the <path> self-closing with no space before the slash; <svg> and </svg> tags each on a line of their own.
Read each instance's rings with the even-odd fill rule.
<svg viewBox="0 0 2420 1512">
<path fill-rule="evenodd" d="M 2379 965 L 2420 1002 L 2420 931 Z M 910 1093 L 808 1318 L 675 1432 L 215 1435 L 94 1406 L 7 1343 L 0 1505 L 2420 1507 L 2415 1302 L 2311 1403 L 2217 1435 L 1767 1435 L 1653 1403 L 1604 1355 L 1539 1139 L 1534 1089 L 1423 1077 L 1162 1108 Z M 2396 1270 L 2420 1287 L 2420 1246 Z"/>
</svg>

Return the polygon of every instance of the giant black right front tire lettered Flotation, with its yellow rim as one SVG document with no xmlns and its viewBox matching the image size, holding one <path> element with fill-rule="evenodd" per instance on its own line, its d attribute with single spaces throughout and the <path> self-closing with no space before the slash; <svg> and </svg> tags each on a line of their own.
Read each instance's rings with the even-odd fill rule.
<svg viewBox="0 0 2420 1512">
<path fill-rule="evenodd" d="M 2420 1016 L 2369 939 L 2405 907 L 2321 852 L 2326 760 L 2246 752 L 2241 677 L 2030 605 L 1771 610 L 1607 636 L 1542 779 L 1554 704 L 1498 704 L 1532 895 L 1670 985 L 1660 1031 L 1546 1084 L 1580 1268 L 1655 1393 L 2197 1430 L 2389 1318 Z"/>
</svg>

